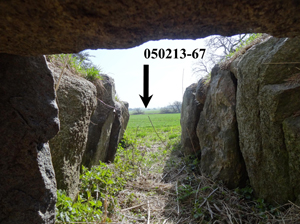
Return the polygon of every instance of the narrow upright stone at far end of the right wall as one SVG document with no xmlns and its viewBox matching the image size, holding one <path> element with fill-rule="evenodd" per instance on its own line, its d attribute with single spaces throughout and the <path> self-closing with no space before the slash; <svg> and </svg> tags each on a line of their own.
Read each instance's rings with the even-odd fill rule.
<svg viewBox="0 0 300 224">
<path fill-rule="evenodd" d="M 197 154 L 200 150 L 196 128 L 203 104 L 195 99 L 197 83 L 186 88 L 181 107 L 181 147 L 186 155 Z"/>
</svg>

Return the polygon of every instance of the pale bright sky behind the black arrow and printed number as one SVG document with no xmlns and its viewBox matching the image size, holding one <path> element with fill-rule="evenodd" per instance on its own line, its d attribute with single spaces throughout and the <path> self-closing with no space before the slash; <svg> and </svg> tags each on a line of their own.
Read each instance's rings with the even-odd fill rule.
<svg viewBox="0 0 300 224">
<path fill-rule="evenodd" d="M 205 43 L 204 39 L 159 40 L 130 49 L 99 49 L 87 52 L 94 56 L 90 59 L 100 67 L 102 73 L 115 80 L 116 92 L 122 101 L 129 103 L 129 108 L 144 108 L 139 96 L 143 95 L 144 64 L 149 65 L 149 95 L 153 94 L 148 108 L 165 107 L 174 101 L 182 101 L 185 88 L 200 78 L 199 75 L 192 74 L 192 66 L 201 59 L 174 59 L 174 51 L 172 59 L 146 59 L 144 51 L 147 48 L 178 49 L 180 57 L 182 48 L 187 54 L 191 54 L 196 48 L 205 48 Z"/>
</svg>

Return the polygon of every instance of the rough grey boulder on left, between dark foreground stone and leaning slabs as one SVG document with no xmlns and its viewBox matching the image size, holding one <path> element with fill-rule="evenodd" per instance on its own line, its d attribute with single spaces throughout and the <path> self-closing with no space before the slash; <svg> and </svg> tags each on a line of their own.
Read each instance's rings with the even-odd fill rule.
<svg viewBox="0 0 300 224">
<path fill-rule="evenodd" d="M 49 63 L 56 84 L 61 67 Z M 65 70 L 57 90 L 61 128 L 50 140 L 57 188 L 74 199 L 78 192 L 80 167 L 86 149 L 90 118 L 96 108 L 96 87 L 84 78 Z"/>
</svg>

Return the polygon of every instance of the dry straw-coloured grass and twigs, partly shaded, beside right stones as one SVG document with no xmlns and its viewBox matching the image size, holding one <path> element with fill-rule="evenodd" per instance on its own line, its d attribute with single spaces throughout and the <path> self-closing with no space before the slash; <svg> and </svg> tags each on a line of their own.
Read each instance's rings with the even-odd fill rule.
<svg viewBox="0 0 300 224">
<path fill-rule="evenodd" d="M 246 200 L 200 175 L 198 165 L 178 149 L 166 157 L 163 172 L 157 172 L 159 167 L 161 163 L 150 171 L 140 167 L 140 175 L 128 181 L 118 195 L 114 223 L 300 223 L 299 206 L 289 202 L 269 208 Z"/>
</svg>

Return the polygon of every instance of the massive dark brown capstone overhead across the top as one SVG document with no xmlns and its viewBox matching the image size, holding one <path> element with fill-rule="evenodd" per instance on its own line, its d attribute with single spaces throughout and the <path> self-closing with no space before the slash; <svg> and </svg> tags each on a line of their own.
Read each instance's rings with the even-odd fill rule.
<svg viewBox="0 0 300 224">
<path fill-rule="evenodd" d="M 1 1 L 0 52 L 71 53 L 212 34 L 296 36 L 299 11 L 294 0 Z"/>
</svg>

